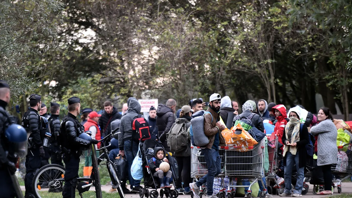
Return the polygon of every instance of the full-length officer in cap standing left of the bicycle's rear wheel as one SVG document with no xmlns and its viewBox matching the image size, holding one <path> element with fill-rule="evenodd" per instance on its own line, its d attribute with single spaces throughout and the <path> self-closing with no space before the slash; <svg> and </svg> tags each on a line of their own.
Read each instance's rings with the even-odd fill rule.
<svg viewBox="0 0 352 198">
<path fill-rule="evenodd" d="M 41 157 L 45 156 L 43 148 L 42 134 L 42 117 L 38 114 L 41 108 L 42 97 L 37 94 L 31 94 L 29 97 L 30 109 L 22 117 L 22 126 L 27 132 L 31 132 L 28 143 L 28 154 L 26 155 L 26 175 L 24 184 L 26 188 L 25 198 L 34 198 L 32 181 L 34 174 L 40 168 Z"/>
</svg>

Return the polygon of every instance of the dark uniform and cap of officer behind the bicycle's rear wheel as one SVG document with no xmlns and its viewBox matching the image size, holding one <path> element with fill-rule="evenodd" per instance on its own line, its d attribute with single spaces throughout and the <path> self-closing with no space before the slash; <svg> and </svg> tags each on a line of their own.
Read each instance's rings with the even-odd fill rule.
<svg viewBox="0 0 352 198">
<path fill-rule="evenodd" d="M 50 103 L 50 107 L 60 107 L 59 104 L 55 102 Z M 58 145 L 58 135 L 60 133 L 60 121 L 59 115 L 51 114 L 48 119 L 51 131 L 51 144 L 50 144 L 50 158 L 51 164 L 57 164 L 63 166 L 61 148 Z"/>
</svg>

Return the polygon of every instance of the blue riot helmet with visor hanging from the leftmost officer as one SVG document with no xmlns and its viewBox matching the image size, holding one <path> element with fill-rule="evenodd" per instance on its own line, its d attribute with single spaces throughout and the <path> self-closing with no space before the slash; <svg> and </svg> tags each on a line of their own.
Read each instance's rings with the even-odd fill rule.
<svg viewBox="0 0 352 198">
<path fill-rule="evenodd" d="M 25 157 L 27 155 L 27 140 L 30 133 L 18 124 L 11 124 L 5 130 L 5 138 L 10 143 L 8 156 L 12 158 Z"/>
</svg>

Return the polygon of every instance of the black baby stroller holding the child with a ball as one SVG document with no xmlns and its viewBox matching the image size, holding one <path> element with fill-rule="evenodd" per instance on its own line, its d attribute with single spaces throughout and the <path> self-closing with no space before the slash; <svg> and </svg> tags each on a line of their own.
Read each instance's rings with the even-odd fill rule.
<svg viewBox="0 0 352 198">
<path fill-rule="evenodd" d="M 160 188 L 160 181 L 158 177 L 153 177 L 150 169 L 149 169 L 149 160 L 154 157 L 154 148 L 156 147 L 161 147 L 164 148 L 162 143 L 153 140 L 153 139 L 147 139 L 140 145 L 140 152 L 142 155 L 142 162 L 143 162 L 143 179 L 144 179 L 144 188 L 139 190 L 139 197 L 143 198 L 144 196 L 146 198 L 151 197 L 151 198 L 157 198 L 159 196 L 158 189 Z M 165 152 L 165 151 L 164 151 Z M 166 152 L 165 152 L 166 153 Z M 172 157 L 169 153 L 166 153 L 166 158 L 169 160 L 170 164 L 170 171 L 172 172 L 172 177 L 170 184 L 174 183 L 174 180 L 176 181 L 178 179 L 178 166 L 177 166 L 177 161 L 174 157 Z M 153 189 L 149 192 L 148 189 Z M 161 189 L 160 190 L 160 197 L 163 198 L 165 194 L 165 197 L 170 197 L 170 198 L 177 198 L 178 197 L 178 192 L 175 189 Z"/>
</svg>

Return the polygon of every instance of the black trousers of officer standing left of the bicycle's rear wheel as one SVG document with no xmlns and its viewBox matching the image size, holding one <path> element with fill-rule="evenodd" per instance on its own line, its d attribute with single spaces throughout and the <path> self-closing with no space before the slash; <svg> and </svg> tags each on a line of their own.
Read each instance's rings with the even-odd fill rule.
<svg viewBox="0 0 352 198">
<path fill-rule="evenodd" d="M 33 155 L 32 155 L 33 153 Z M 26 175 L 24 177 L 24 185 L 26 188 L 25 196 L 33 194 L 32 183 L 34 174 L 38 171 L 41 165 L 41 158 L 39 156 L 39 148 L 31 149 L 26 156 Z"/>
</svg>

